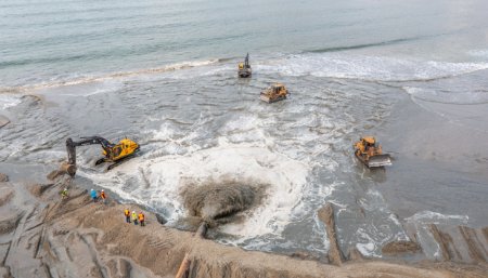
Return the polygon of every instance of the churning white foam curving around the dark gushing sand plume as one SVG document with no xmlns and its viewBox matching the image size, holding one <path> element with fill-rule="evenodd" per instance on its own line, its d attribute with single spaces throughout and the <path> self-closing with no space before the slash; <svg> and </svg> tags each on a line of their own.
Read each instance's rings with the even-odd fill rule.
<svg viewBox="0 0 488 278">
<path fill-rule="evenodd" d="M 142 176 L 142 169 L 145 176 Z M 280 234 L 290 223 L 293 208 L 299 203 L 309 167 L 266 147 L 252 144 L 228 144 L 220 141 L 218 147 L 197 150 L 183 156 L 164 156 L 150 159 L 131 159 L 107 173 L 80 173 L 95 184 L 108 188 L 123 198 L 138 203 L 165 203 L 167 217 L 176 221 L 185 215 L 179 196 L 189 182 L 198 185 L 206 181 L 253 181 L 269 185 L 264 203 L 246 212 L 243 223 L 231 223 L 221 231 L 243 238 L 265 234 Z M 131 191 L 128 181 L 149 182 L 149 187 L 138 185 Z M 142 184 L 140 182 L 137 182 Z"/>
</svg>

